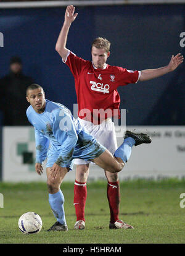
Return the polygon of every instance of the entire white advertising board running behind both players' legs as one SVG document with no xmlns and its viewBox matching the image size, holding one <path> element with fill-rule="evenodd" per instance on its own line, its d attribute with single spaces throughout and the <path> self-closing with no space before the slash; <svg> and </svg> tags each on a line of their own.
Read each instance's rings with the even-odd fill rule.
<svg viewBox="0 0 185 256">
<path fill-rule="evenodd" d="M 150 135 L 152 143 L 133 147 L 130 160 L 119 173 L 121 179 L 185 177 L 185 127 L 138 126 L 126 127 L 133 132 Z M 117 127 L 116 127 L 117 130 Z M 33 127 L 4 127 L 3 129 L 3 181 L 46 181 L 46 170 L 35 173 L 35 138 Z M 123 139 L 118 137 L 118 146 Z M 43 164 L 45 166 L 45 164 Z M 105 179 L 104 171 L 91 164 L 89 181 Z M 75 180 L 75 167 L 65 181 Z"/>
</svg>

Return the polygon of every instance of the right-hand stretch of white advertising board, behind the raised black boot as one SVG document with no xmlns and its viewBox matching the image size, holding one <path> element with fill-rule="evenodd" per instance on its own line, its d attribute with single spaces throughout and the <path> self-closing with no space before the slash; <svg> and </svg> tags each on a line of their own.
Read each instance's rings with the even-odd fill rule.
<svg viewBox="0 0 185 256">
<path fill-rule="evenodd" d="M 185 127 L 138 126 L 126 127 L 133 132 L 150 135 L 152 143 L 133 147 L 130 160 L 119 173 L 121 179 L 185 177 Z M 118 146 L 123 139 L 117 138 Z M 92 174 L 92 169 L 94 173 Z M 104 172 L 92 165 L 89 179 L 103 179 Z"/>
</svg>

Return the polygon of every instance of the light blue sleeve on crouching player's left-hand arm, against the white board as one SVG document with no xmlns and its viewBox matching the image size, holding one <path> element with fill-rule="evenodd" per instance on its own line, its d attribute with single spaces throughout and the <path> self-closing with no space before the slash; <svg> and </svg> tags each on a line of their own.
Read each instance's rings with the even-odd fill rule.
<svg viewBox="0 0 185 256">
<path fill-rule="evenodd" d="M 49 148 L 49 139 L 43 136 L 39 130 L 35 129 L 35 146 L 36 146 L 36 160 L 35 163 L 42 163 L 47 156 Z"/>
</svg>

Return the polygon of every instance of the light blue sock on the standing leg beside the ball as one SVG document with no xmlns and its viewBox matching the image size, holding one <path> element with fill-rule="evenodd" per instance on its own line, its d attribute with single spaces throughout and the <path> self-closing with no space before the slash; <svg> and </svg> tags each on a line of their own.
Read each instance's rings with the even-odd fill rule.
<svg viewBox="0 0 185 256">
<path fill-rule="evenodd" d="M 66 224 L 64 211 L 64 195 L 61 190 L 55 194 L 49 194 L 49 204 L 55 218 L 61 224 Z"/>
</svg>

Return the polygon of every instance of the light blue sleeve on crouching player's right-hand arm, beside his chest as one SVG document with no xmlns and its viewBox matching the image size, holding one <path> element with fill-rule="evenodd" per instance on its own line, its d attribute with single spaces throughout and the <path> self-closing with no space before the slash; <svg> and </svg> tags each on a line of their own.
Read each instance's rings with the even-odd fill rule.
<svg viewBox="0 0 185 256">
<path fill-rule="evenodd" d="M 68 167 L 78 140 L 75 124 L 71 114 L 65 111 L 65 109 L 55 109 L 52 113 L 52 117 L 52 131 L 55 139 L 57 139 L 61 145 L 60 155 L 55 163 L 61 167 Z"/>
</svg>

